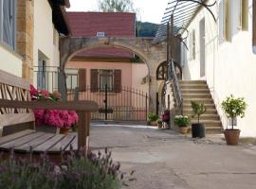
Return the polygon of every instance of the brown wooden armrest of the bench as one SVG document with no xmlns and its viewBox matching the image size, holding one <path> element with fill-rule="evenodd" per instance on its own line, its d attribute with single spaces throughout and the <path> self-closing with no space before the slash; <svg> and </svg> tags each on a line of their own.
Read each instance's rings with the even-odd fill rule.
<svg viewBox="0 0 256 189">
<path fill-rule="evenodd" d="M 78 112 L 97 112 L 98 104 L 93 101 L 18 101 L 0 99 L 0 108 L 49 109 Z"/>
</svg>

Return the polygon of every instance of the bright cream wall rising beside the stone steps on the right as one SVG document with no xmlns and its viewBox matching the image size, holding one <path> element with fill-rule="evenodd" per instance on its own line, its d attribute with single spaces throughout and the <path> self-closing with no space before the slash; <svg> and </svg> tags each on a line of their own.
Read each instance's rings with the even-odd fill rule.
<svg viewBox="0 0 256 189">
<path fill-rule="evenodd" d="M 248 2 L 248 31 L 239 31 L 232 37 L 231 42 L 219 43 L 218 22 L 214 23 L 206 9 L 198 12 L 188 27 L 190 31 L 195 29 L 196 59 L 185 63 L 183 78 L 207 79 L 225 129 L 227 117 L 221 109 L 221 102 L 229 94 L 245 97 L 248 104 L 246 116 L 239 118 L 237 125 L 242 136 L 256 136 L 256 55 L 252 52 L 252 1 Z M 211 9 L 218 18 L 217 6 Z M 206 77 L 201 78 L 199 21 L 203 17 L 206 18 Z"/>
</svg>

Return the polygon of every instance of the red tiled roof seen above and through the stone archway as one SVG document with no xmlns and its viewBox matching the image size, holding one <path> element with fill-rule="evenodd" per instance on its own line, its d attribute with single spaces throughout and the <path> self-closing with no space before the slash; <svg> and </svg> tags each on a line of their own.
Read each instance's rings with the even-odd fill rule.
<svg viewBox="0 0 256 189">
<path fill-rule="evenodd" d="M 104 32 L 106 37 L 136 37 L 136 14 L 127 12 L 66 12 L 72 36 L 96 37 Z M 133 53 L 117 48 L 97 48 L 84 51 L 83 57 L 132 58 Z"/>
</svg>

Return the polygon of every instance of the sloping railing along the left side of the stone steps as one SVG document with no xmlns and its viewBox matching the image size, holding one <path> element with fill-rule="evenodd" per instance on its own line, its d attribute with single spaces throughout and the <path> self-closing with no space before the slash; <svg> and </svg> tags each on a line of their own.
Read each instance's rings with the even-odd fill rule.
<svg viewBox="0 0 256 189">
<path fill-rule="evenodd" d="M 183 114 L 183 98 L 182 98 L 182 93 L 180 90 L 178 78 L 175 72 L 173 60 L 170 60 L 169 62 L 169 73 L 170 73 L 169 76 L 171 76 L 171 81 L 173 84 L 174 101 L 177 107 L 177 113 Z"/>
</svg>

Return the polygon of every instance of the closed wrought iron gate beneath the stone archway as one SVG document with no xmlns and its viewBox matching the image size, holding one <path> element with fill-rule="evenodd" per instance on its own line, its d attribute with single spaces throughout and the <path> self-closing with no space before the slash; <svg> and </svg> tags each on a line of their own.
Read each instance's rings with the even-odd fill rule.
<svg viewBox="0 0 256 189">
<path fill-rule="evenodd" d="M 74 99 L 69 92 L 68 98 Z M 94 88 L 87 86 L 79 92 L 80 100 L 92 100 L 98 103 L 99 111 L 92 113 L 92 120 L 146 121 L 148 114 L 148 94 L 130 87 L 115 90 L 105 86 Z"/>
</svg>

